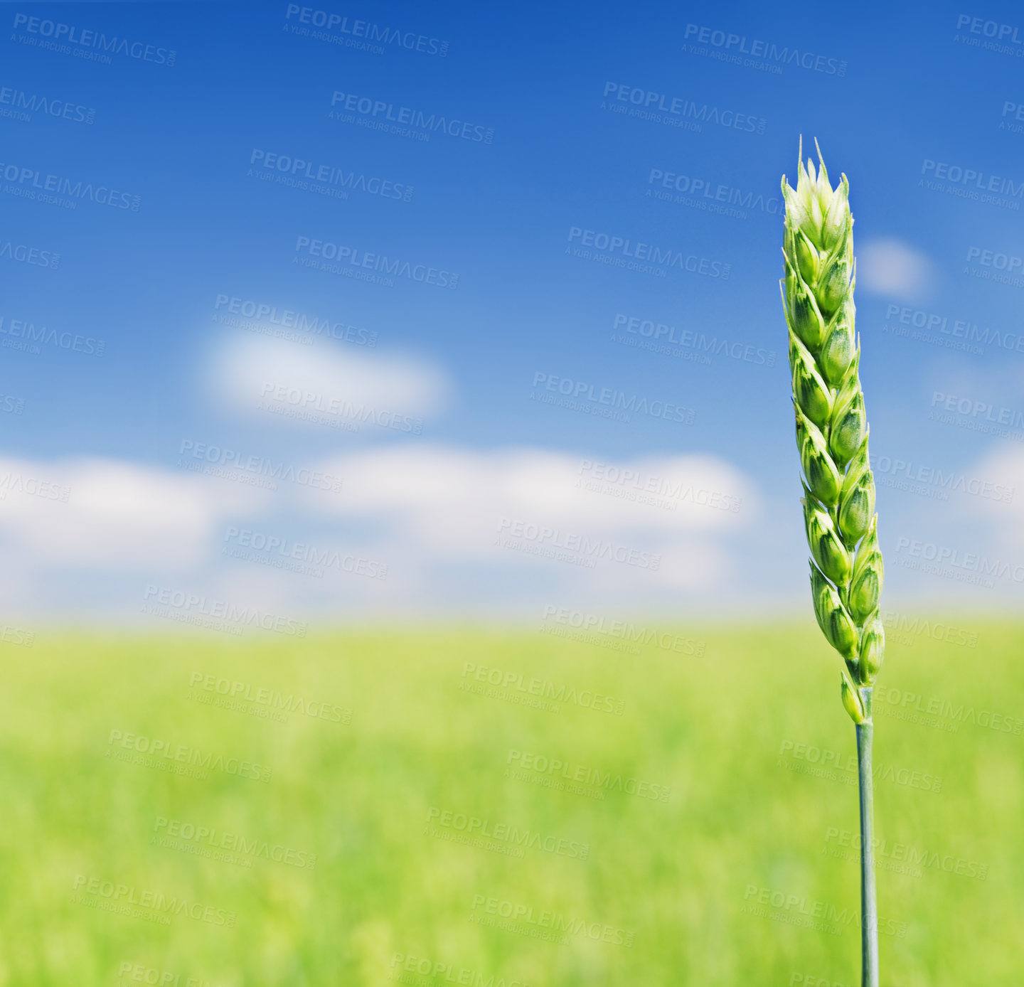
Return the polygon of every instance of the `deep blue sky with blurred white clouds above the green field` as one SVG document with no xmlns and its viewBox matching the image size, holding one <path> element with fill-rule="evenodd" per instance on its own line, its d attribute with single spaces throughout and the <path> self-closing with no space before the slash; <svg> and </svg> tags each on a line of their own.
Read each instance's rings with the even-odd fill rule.
<svg viewBox="0 0 1024 987">
<path fill-rule="evenodd" d="M 0 16 L 11 613 L 127 618 L 152 587 L 311 618 L 804 605 L 777 288 L 778 183 L 800 134 L 851 182 L 889 600 L 1019 602 L 1024 295 L 991 276 L 1024 255 L 1019 8 L 316 0 Z M 119 39 L 109 63 L 82 57 L 97 52 L 88 32 Z M 373 50 L 372 33 L 408 47 Z M 366 126 L 417 115 L 454 133 Z M 330 186 L 337 169 L 358 186 L 347 199 L 283 180 Z M 48 175 L 63 203 L 42 198 Z M 579 255 L 612 238 L 610 262 Z M 650 247 L 677 263 L 623 266 Z M 59 254 L 56 269 L 19 248 Z M 349 272 L 386 256 L 409 273 L 375 284 L 302 262 L 338 248 Z M 454 288 L 427 283 L 453 273 Z M 231 325 L 247 303 L 264 308 Z M 268 309 L 343 338 L 275 340 Z M 631 345 L 645 321 L 672 327 L 667 352 Z M 915 321 L 928 339 L 898 335 Z M 102 353 L 54 334 L 34 352 L 23 323 Z M 962 324 L 980 352 L 948 345 L 971 342 Z M 689 333 L 718 341 L 710 364 L 684 358 Z M 559 387 L 586 410 L 550 403 Z M 656 412 L 592 414 L 604 388 Z M 318 420 L 294 417 L 290 394 Z M 353 430 L 353 407 L 387 424 Z M 342 490 L 198 473 L 211 464 L 197 446 L 333 471 Z M 629 501 L 624 469 L 717 506 Z M 907 473 L 916 486 L 900 489 Z M 942 499 L 937 474 L 968 491 Z M 531 540 L 534 524 L 552 533 Z M 286 542 L 292 562 L 311 545 L 387 577 L 227 557 L 245 539 L 232 529 Z M 588 565 L 582 541 L 608 554 Z M 952 566 L 915 568 L 929 554 Z M 1004 574 L 978 585 L 973 556 Z"/>
</svg>

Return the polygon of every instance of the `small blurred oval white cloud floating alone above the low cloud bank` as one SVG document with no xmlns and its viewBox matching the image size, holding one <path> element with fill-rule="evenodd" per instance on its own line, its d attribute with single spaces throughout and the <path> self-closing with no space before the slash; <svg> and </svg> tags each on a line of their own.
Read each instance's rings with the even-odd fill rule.
<svg viewBox="0 0 1024 987">
<path fill-rule="evenodd" d="M 215 396 L 232 411 L 265 417 L 271 404 L 284 422 L 306 412 L 328 420 L 350 417 L 351 409 L 424 417 L 444 404 L 449 384 L 433 364 L 409 355 L 362 352 L 325 345 L 296 346 L 242 334 L 225 343 L 212 363 Z"/>
</svg>

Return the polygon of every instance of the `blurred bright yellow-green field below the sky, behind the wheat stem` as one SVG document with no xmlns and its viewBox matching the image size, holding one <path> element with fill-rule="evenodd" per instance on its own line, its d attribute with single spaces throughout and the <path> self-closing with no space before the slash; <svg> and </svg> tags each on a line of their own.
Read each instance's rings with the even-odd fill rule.
<svg viewBox="0 0 1024 987">
<path fill-rule="evenodd" d="M 888 987 L 1024 974 L 1024 628 L 958 626 L 881 677 Z M 2 645 L 0 985 L 859 983 L 817 628 L 596 641 Z"/>
</svg>

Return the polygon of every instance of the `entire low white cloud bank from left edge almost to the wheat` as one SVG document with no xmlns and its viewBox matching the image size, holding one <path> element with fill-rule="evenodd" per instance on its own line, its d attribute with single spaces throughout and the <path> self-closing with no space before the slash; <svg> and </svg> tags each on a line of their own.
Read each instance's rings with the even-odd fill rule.
<svg viewBox="0 0 1024 987">
<path fill-rule="evenodd" d="M 675 606 L 721 585 L 729 537 L 758 511 L 750 480 L 713 456 L 596 463 L 407 444 L 316 465 L 343 477 L 340 493 L 98 459 L 0 460 L 0 550 L 25 576 L 8 599 L 59 612 L 88 596 L 131 613 L 124 581 L 144 571 L 290 614 L 523 612 L 552 599 Z M 223 556 L 237 525 L 374 560 L 387 577 L 311 578 Z"/>
</svg>

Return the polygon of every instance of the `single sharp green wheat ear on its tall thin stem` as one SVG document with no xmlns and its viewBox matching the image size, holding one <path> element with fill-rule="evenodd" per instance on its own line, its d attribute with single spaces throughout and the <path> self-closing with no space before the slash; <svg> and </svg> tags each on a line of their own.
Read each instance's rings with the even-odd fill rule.
<svg viewBox="0 0 1024 987">
<path fill-rule="evenodd" d="M 817 141 L 815 141 L 817 147 Z M 882 668 L 879 618 L 883 565 L 860 388 L 860 340 L 854 330 L 853 216 L 846 175 L 831 187 L 821 151 L 803 161 L 797 187 L 782 176 L 790 369 L 803 466 L 804 525 L 811 595 L 821 633 L 843 656 L 840 691 L 857 729 L 860 781 L 862 987 L 879 987 L 871 789 L 871 683 Z"/>
</svg>

